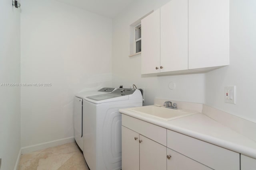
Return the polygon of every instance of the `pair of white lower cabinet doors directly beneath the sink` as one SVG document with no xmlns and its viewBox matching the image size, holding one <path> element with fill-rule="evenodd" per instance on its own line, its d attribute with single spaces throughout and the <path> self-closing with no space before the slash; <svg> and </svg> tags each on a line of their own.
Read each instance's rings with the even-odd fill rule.
<svg viewBox="0 0 256 170">
<path fill-rule="evenodd" d="M 122 170 L 166 170 L 166 147 L 122 126 Z"/>
</svg>

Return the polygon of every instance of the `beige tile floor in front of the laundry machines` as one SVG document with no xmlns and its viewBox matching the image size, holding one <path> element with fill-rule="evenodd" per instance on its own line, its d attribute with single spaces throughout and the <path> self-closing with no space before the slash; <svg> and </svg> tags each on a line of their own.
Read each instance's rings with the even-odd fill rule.
<svg viewBox="0 0 256 170">
<path fill-rule="evenodd" d="M 76 143 L 23 154 L 18 170 L 89 170 Z"/>
</svg>

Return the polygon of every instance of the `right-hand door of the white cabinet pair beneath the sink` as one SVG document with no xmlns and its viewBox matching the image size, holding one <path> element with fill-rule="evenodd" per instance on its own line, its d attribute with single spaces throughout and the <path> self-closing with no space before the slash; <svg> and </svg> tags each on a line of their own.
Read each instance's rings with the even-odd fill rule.
<svg viewBox="0 0 256 170">
<path fill-rule="evenodd" d="M 166 170 L 166 147 L 140 135 L 140 170 Z"/>
</svg>

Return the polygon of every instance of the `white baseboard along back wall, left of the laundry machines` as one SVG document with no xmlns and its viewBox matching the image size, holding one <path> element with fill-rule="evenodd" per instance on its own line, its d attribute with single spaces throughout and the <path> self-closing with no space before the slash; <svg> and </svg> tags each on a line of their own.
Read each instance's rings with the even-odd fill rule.
<svg viewBox="0 0 256 170">
<path fill-rule="evenodd" d="M 40 144 L 37 144 L 37 145 L 31 145 L 31 146 L 28 146 L 28 147 L 22 147 L 21 148 L 21 153 L 26 154 L 26 153 L 34 152 L 34 151 L 41 150 L 41 149 L 56 147 L 58 145 L 63 145 L 63 144 L 66 144 L 66 143 L 72 143 L 74 141 L 75 141 L 74 137 L 68 137 L 68 138 L 64 138 L 64 139 L 58 139 L 58 140 L 55 140 L 55 141 L 40 143 Z"/>
</svg>

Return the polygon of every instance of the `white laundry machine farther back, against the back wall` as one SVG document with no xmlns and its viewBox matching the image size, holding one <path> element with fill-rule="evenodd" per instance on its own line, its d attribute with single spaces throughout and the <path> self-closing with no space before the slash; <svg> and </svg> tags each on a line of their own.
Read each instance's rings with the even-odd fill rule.
<svg viewBox="0 0 256 170">
<path fill-rule="evenodd" d="M 87 91 L 87 92 L 81 92 L 76 94 L 74 98 L 74 137 L 75 141 L 80 148 L 80 150 L 83 152 L 84 147 L 84 139 L 83 139 L 83 100 L 87 96 L 97 95 L 97 94 L 106 94 L 110 93 L 115 88 L 101 88 L 100 90 L 93 90 L 93 91 Z"/>
</svg>

